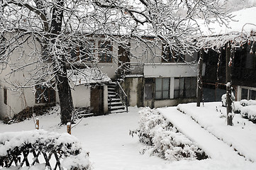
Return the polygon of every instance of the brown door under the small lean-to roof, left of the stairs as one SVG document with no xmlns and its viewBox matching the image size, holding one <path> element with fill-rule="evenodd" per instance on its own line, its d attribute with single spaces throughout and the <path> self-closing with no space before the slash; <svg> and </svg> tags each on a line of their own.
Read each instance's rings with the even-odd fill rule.
<svg viewBox="0 0 256 170">
<path fill-rule="evenodd" d="M 104 115 L 103 86 L 91 87 L 91 113 Z"/>
</svg>

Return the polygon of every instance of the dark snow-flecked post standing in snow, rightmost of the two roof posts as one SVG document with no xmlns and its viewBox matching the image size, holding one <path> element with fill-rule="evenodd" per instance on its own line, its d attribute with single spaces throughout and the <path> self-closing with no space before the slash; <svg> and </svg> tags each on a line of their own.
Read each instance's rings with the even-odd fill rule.
<svg viewBox="0 0 256 170">
<path fill-rule="evenodd" d="M 232 90 L 231 90 L 231 52 L 230 42 L 226 43 L 226 103 L 227 103 L 227 125 L 233 125 L 232 123 Z"/>
</svg>

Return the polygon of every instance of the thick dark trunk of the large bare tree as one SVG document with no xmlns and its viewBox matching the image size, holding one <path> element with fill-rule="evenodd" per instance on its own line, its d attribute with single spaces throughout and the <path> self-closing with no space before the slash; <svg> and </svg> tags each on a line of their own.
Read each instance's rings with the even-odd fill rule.
<svg viewBox="0 0 256 170">
<path fill-rule="evenodd" d="M 55 8 L 52 10 L 51 23 L 51 43 L 55 44 L 57 35 L 62 30 L 64 1 L 58 0 Z M 55 54 L 57 55 L 57 54 Z M 71 89 L 67 79 L 67 62 L 65 57 L 59 56 L 58 59 L 52 60 L 55 72 L 57 72 L 55 79 L 57 83 L 57 90 L 60 98 L 60 120 L 62 124 L 67 124 L 71 121 L 72 111 L 74 110 Z"/>
</svg>

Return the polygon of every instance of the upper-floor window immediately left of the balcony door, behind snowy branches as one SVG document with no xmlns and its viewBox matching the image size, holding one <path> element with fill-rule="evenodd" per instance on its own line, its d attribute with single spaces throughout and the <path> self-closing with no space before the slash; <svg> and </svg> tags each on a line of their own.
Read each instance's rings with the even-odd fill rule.
<svg viewBox="0 0 256 170">
<path fill-rule="evenodd" d="M 113 47 L 110 41 L 99 41 L 99 62 L 112 62 Z"/>
</svg>

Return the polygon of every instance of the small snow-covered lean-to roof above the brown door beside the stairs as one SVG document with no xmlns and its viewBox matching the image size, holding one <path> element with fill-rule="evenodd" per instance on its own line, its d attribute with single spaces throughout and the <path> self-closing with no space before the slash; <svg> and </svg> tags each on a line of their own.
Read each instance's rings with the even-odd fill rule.
<svg viewBox="0 0 256 170">
<path fill-rule="evenodd" d="M 69 80 L 75 86 L 82 84 L 99 84 L 111 81 L 111 79 L 100 69 L 69 69 L 67 71 Z"/>
</svg>

